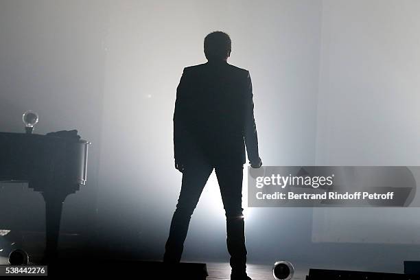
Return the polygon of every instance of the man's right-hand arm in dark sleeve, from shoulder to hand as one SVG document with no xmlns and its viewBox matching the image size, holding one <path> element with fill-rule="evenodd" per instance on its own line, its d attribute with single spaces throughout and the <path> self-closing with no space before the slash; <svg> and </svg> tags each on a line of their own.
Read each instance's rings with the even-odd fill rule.
<svg viewBox="0 0 420 280">
<path fill-rule="evenodd" d="M 262 162 L 258 154 L 257 126 L 254 119 L 253 84 L 249 72 L 246 77 L 245 145 L 251 167 L 261 167 Z"/>
</svg>

